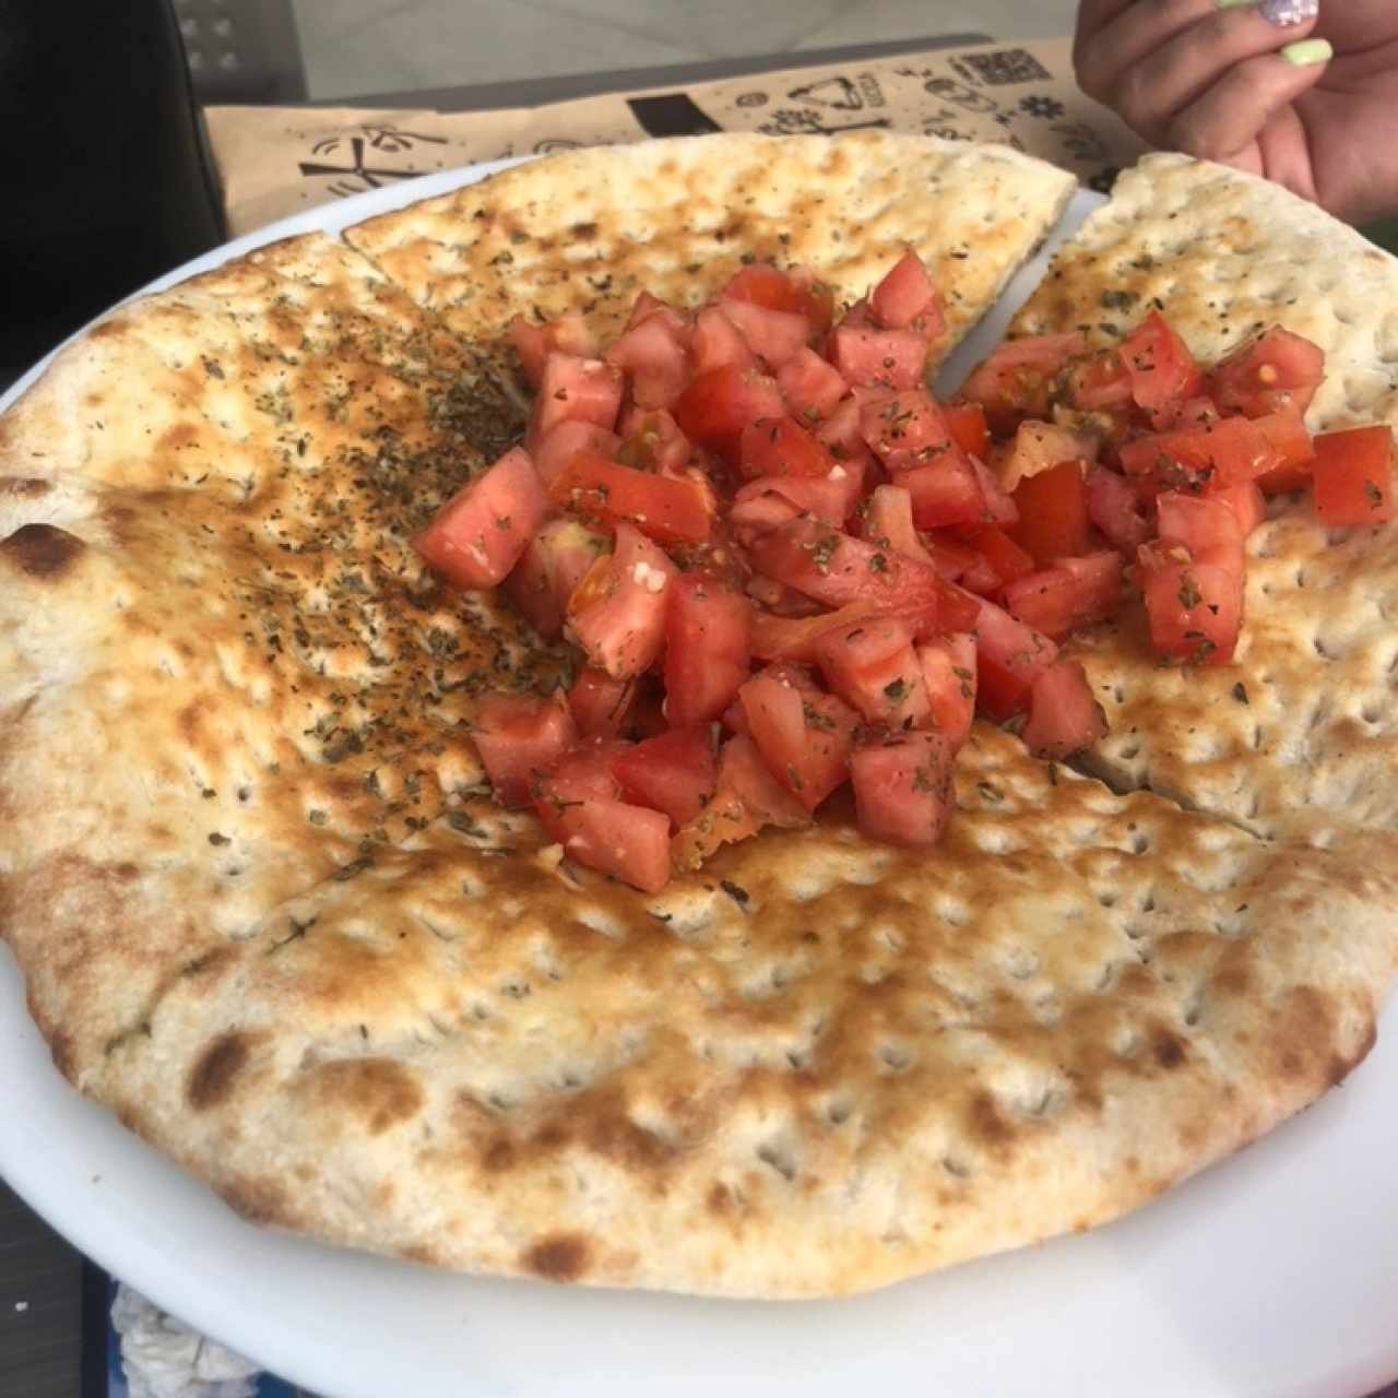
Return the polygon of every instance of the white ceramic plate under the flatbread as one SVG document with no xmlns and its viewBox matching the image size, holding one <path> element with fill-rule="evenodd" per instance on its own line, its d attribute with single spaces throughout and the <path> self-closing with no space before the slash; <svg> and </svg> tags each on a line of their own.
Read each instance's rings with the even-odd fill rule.
<svg viewBox="0 0 1398 1398">
<path fill-rule="evenodd" d="M 301 214 L 155 285 L 495 168 Z M 1054 242 L 1097 203 L 1078 194 Z M 944 382 L 998 340 L 1046 257 Z M 740 1304 L 482 1281 L 254 1229 L 67 1086 L 4 953 L 0 1174 L 158 1304 L 334 1398 L 1345 1398 L 1398 1377 L 1398 1008 L 1381 1030 L 1338 1092 L 1118 1223 L 856 1300 Z"/>
</svg>

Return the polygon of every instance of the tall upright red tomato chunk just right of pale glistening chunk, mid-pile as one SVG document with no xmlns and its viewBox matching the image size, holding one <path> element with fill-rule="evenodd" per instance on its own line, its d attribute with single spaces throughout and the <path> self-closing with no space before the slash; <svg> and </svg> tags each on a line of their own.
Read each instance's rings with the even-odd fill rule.
<svg viewBox="0 0 1398 1398">
<path fill-rule="evenodd" d="M 664 625 L 667 717 L 677 728 L 717 719 L 748 678 L 752 604 L 709 573 L 685 572 Z"/>
</svg>

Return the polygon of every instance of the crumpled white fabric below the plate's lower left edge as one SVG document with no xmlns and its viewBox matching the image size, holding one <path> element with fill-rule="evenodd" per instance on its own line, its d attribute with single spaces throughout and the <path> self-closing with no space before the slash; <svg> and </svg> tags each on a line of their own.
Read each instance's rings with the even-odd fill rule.
<svg viewBox="0 0 1398 1398">
<path fill-rule="evenodd" d="M 130 1398 L 252 1398 L 257 1366 L 117 1283 L 112 1324 L 122 1336 Z"/>
</svg>

